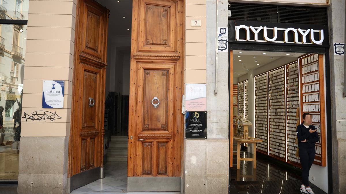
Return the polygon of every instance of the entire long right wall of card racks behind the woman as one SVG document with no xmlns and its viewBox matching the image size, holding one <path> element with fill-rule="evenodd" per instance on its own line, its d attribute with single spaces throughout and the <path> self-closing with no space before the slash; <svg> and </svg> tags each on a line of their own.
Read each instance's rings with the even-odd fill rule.
<svg viewBox="0 0 346 194">
<path fill-rule="evenodd" d="M 323 55 L 306 54 L 298 61 L 254 76 L 255 136 L 263 139 L 257 144 L 258 152 L 300 166 L 295 156 L 297 122 L 300 124 L 297 117 L 302 122 L 303 113 L 308 112 L 313 115 L 312 124 L 320 127 L 314 164 L 326 166 L 323 69 Z"/>
</svg>

